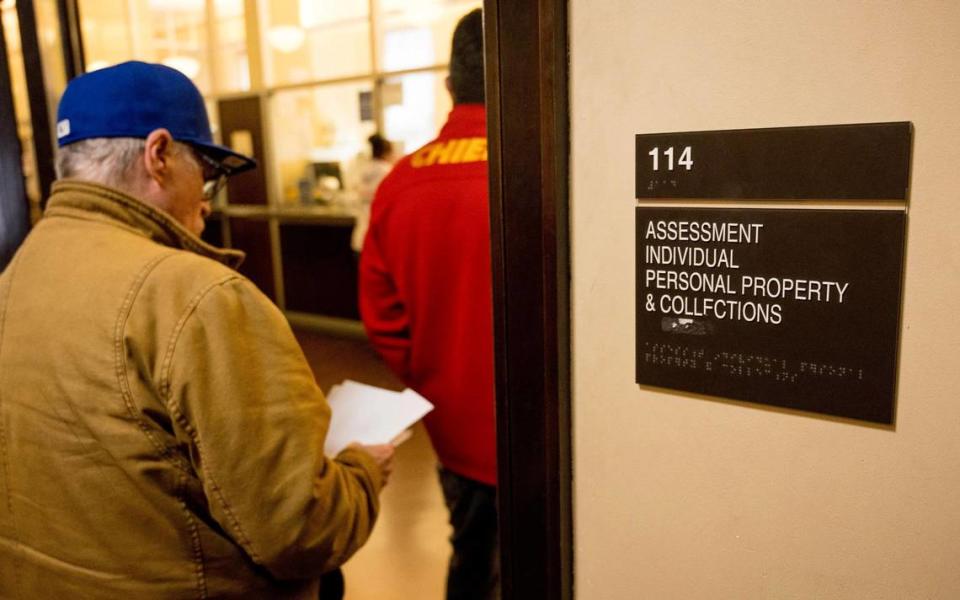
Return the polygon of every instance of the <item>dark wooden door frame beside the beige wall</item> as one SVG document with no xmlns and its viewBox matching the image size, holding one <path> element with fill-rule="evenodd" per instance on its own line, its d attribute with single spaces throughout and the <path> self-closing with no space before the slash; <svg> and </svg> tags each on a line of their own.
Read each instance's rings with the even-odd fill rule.
<svg viewBox="0 0 960 600">
<path fill-rule="evenodd" d="M 567 3 L 484 2 L 504 599 L 573 597 Z"/>
</svg>

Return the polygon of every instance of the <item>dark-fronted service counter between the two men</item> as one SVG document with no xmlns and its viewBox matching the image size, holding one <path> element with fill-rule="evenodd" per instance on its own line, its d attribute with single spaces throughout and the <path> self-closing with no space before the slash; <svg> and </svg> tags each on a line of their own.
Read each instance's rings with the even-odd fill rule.
<svg viewBox="0 0 960 600">
<path fill-rule="evenodd" d="M 243 250 L 239 271 L 297 325 L 362 335 L 355 219 L 342 206 L 225 206 L 207 219 L 203 238 Z"/>
</svg>

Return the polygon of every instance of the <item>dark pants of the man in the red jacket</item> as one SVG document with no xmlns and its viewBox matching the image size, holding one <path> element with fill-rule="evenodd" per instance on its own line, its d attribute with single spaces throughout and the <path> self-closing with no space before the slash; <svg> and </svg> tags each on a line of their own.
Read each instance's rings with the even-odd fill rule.
<svg viewBox="0 0 960 600">
<path fill-rule="evenodd" d="M 439 472 L 453 527 L 447 600 L 496 600 L 500 598 L 497 488 L 443 467 Z"/>
</svg>

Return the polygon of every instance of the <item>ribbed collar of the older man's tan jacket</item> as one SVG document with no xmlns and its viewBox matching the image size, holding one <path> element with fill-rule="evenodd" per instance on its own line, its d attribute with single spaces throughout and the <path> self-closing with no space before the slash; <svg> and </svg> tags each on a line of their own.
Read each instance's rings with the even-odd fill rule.
<svg viewBox="0 0 960 600">
<path fill-rule="evenodd" d="M 44 216 L 82 216 L 136 230 L 164 246 L 188 250 L 236 269 L 244 253 L 212 246 L 167 213 L 115 188 L 87 181 L 54 182 Z"/>
</svg>

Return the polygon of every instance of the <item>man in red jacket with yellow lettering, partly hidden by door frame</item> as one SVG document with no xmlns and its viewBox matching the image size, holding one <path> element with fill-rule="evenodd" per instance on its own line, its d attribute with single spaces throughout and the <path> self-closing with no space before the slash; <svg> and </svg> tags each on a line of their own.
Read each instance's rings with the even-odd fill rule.
<svg viewBox="0 0 960 600">
<path fill-rule="evenodd" d="M 453 556 L 447 598 L 499 595 L 493 308 L 483 15 L 453 34 L 454 107 L 434 141 L 383 180 L 360 258 L 360 313 L 374 347 L 434 403 Z"/>
</svg>

